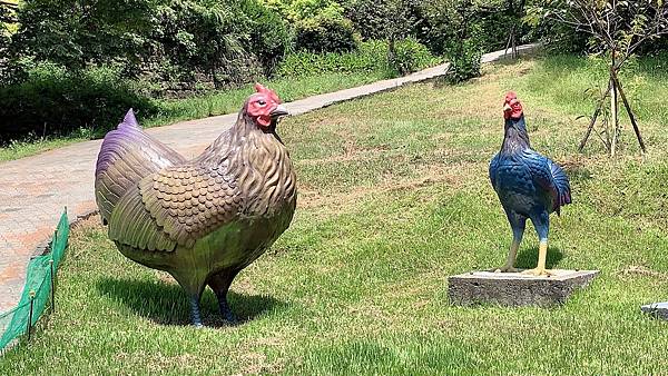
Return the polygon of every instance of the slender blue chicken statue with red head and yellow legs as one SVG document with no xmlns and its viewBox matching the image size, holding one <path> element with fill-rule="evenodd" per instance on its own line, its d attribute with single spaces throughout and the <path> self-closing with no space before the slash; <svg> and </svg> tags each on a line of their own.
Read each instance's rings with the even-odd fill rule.
<svg viewBox="0 0 668 376">
<path fill-rule="evenodd" d="M 571 202 L 568 177 L 557 164 L 531 149 L 522 105 L 514 92 L 503 103 L 505 136 L 501 151 L 490 162 L 490 179 L 512 228 L 512 244 L 505 265 L 497 271 L 518 271 L 514 261 L 522 241 L 527 218 L 540 239 L 538 266 L 524 270 L 534 276 L 550 275 L 546 269 L 550 214 Z"/>
</svg>

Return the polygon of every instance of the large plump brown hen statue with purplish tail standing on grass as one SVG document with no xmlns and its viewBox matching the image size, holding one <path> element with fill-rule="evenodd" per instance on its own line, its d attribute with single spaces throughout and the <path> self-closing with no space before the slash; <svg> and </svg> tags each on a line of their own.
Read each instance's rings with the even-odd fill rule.
<svg viewBox="0 0 668 376">
<path fill-rule="evenodd" d="M 141 130 L 132 110 L 105 137 L 95 176 L 96 200 L 122 255 L 169 273 L 190 298 L 208 285 L 220 314 L 234 277 L 287 229 L 297 199 L 288 151 L 276 135 L 287 115 L 278 96 L 257 83 L 236 123 L 193 160 Z"/>
</svg>

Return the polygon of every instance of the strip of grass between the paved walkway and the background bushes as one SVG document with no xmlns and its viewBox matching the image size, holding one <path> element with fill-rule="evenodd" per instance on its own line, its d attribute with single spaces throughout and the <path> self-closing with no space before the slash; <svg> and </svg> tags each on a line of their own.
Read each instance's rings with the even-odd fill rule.
<svg viewBox="0 0 668 376">
<path fill-rule="evenodd" d="M 313 95 L 331 92 L 360 85 L 374 82 L 386 78 L 386 73 L 324 73 L 312 77 L 273 79 L 263 83 L 281 93 L 284 101 L 293 101 Z M 185 99 L 163 100 L 163 111 L 148 119 L 141 118 L 144 127 L 159 127 L 180 120 L 200 119 L 209 116 L 237 112 L 244 100 L 254 91 L 253 85 L 246 85 L 238 89 L 216 91 L 204 96 Z M 119 120 L 122 115 L 119 113 Z M 140 117 L 140 113 L 139 113 Z M 14 141 L 6 147 L 0 147 L 0 162 L 19 159 L 60 148 L 66 145 L 101 138 L 104 133 L 91 132 L 86 129 L 72 132 L 65 137 L 48 136 L 46 138 L 33 138 Z"/>
</svg>

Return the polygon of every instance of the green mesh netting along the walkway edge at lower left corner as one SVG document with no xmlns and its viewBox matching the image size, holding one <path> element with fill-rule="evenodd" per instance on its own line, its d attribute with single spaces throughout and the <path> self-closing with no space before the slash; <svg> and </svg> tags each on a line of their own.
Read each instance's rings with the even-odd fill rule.
<svg viewBox="0 0 668 376">
<path fill-rule="evenodd" d="M 47 301 L 51 298 L 51 270 L 56 271 L 69 236 L 69 222 L 67 210 L 60 216 L 60 221 L 51 240 L 51 249 L 43 256 L 35 257 L 28 264 L 26 273 L 26 285 L 21 294 L 19 304 L 0 314 L 0 350 L 2 350 L 14 338 L 28 332 L 28 320 L 30 318 L 30 303 L 32 301 L 32 321 L 35 325 L 41 316 Z M 51 260 L 53 267 L 51 268 Z"/>
</svg>

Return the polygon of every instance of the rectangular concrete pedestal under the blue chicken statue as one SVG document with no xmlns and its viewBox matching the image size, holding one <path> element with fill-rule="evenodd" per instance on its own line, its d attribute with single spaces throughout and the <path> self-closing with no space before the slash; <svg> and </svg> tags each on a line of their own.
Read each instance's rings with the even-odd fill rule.
<svg viewBox="0 0 668 376">
<path fill-rule="evenodd" d="M 460 306 L 554 306 L 589 285 L 599 270 L 551 270 L 553 276 L 471 271 L 448 278 L 450 301 Z"/>
</svg>

